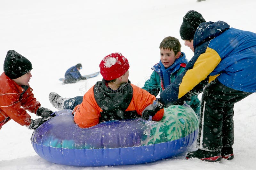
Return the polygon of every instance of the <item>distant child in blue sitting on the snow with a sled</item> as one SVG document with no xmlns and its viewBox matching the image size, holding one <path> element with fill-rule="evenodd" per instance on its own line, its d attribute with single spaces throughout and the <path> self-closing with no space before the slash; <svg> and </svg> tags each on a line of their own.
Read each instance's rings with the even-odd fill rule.
<svg viewBox="0 0 256 170">
<path fill-rule="evenodd" d="M 64 84 L 67 83 L 75 83 L 76 81 L 79 80 L 86 80 L 86 77 L 83 77 L 79 70 L 82 69 L 82 64 L 78 63 L 73 67 L 68 68 L 68 70 L 65 73 L 65 81 L 63 82 Z"/>
</svg>

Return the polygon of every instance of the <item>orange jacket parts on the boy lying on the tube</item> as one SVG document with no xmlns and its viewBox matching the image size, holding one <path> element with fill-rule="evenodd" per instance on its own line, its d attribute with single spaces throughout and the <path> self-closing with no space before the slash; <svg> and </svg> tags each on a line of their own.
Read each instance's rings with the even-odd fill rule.
<svg viewBox="0 0 256 170">
<path fill-rule="evenodd" d="M 135 110 L 141 116 L 141 112 L 156 100 L 154 95 L 151 95 L 146 90 L 141 89 L 131 84 L 133 89 L 132 100 L 125 111 Z M 100 112 L 103 110 L 97 104 L 93 88 L 89 89 L 83 98 L 83 102 L 77 105 L 74 109 L 74 121 L 81 128 L 88 128 L 100 123 Z M 164 109 L 159 110 L 152 120 L 160 121 L 164 115 Z"/>
</svg>

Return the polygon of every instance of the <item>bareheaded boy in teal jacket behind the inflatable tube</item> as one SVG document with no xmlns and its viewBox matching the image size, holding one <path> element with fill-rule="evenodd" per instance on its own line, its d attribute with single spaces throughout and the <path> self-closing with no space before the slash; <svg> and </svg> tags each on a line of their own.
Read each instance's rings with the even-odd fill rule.
<svg viewBox="0 0 256 170">
<path fill-rule="evenodd" d="M 160 61 L 151 69 L 154 70 L 142 89 L 150 94 L 157 96 L 166 86 L 170 85 L 175 78 L 185 70 L 188 60 L 185 53 L 180 52 L 180 41 L 174 37 L 166 37 L 160 43 Z M 200 100 L 197 96 L 191 96 L 191 100 L 186 101 L 199 117 Z M 175 104 L 183 104 L 183 100 Z"/>
</svg>

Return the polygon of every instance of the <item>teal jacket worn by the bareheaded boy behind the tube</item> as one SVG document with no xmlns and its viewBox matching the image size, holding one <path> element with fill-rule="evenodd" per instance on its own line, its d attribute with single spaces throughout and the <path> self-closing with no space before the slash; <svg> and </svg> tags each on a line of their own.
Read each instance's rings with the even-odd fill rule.
<svg viewBox="0 0 256 170">
<path fill-rule="evenodd" d="M 175 62 L 168 68 L 165 68 L 161 62 L 155 64 L 151 69 L 153 73 L 148 79 L 142 89 L 147 90 L 150 94 L 157 96 L 161 93 L 166 86 L 170 85 L 175 78 L 181 74 L 186 67 L 188 60 L 185 53 L 181 52 L 181 55 Z M 191 96 L 191 101 L 186 101 L 188 105 L 195 111 L 196 115 L 200 115 L 200 100 L 197 96 Z"/>
</svg>

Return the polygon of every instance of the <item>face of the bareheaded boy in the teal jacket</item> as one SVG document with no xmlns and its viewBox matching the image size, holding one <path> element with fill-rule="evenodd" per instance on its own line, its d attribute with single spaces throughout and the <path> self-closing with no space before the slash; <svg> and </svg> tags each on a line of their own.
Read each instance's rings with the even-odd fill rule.
<svg viewBox="0 0 256 170">
<path fill-rule="evenodd" d="M 178 52 L 176 55 L 174 51 L 171 49 L 160 49 L 160 60 L 165 68 L 170 67 L 176 59 L 180 57 L 180 52 Z"/>
</svg>

